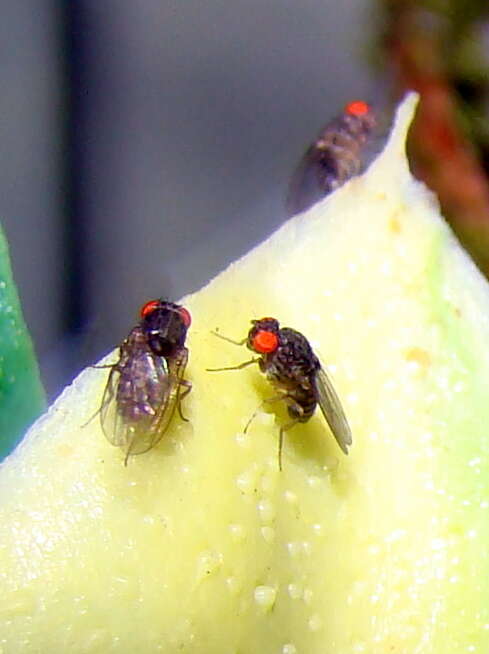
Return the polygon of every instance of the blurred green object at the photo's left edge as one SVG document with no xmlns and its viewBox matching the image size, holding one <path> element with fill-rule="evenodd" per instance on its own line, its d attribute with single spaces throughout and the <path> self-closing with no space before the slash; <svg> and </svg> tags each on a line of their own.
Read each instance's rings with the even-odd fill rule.
<svg viewBox="0 0 489 654">
<path fill-rule="evenodd" d="M 22 316 L 0 228 L 0 460 L 46 406 L 32 341 Z"/>
</svg>

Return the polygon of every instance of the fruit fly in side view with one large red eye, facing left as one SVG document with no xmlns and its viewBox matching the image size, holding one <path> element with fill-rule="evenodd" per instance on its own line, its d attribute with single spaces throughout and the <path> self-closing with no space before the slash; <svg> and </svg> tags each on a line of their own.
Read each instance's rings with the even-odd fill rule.
<svg viewBox="0 0 489 654">
<path fill-rule="evenodd" d="M 233 341 L 217 332 L 214 334 L 236 345 L 246 343 L 250 350 L 260 356 L 238 366 L 208 370 L 212 372 L 240 370 L 257 363 L 267 376 L 277 395 L 266 399 L 264 403 L 284 400 L 291 418 L 290 422 L 280 428 L 278 447 L 280 470 L 282 470 L 284 433 L 298 422 L 307 422 L 318 404 L 338 445 L 345 454 L 348 454 L 352 436 L 345 412 L 307 338 L 295 329 L 281 328 L 275 318 L 261 318 L 251 322 L 252 327 L 248 336 L 242 341 Z M 245 432 L 257 413 L 258 411 L 251 416 Z"/>
</svg>

